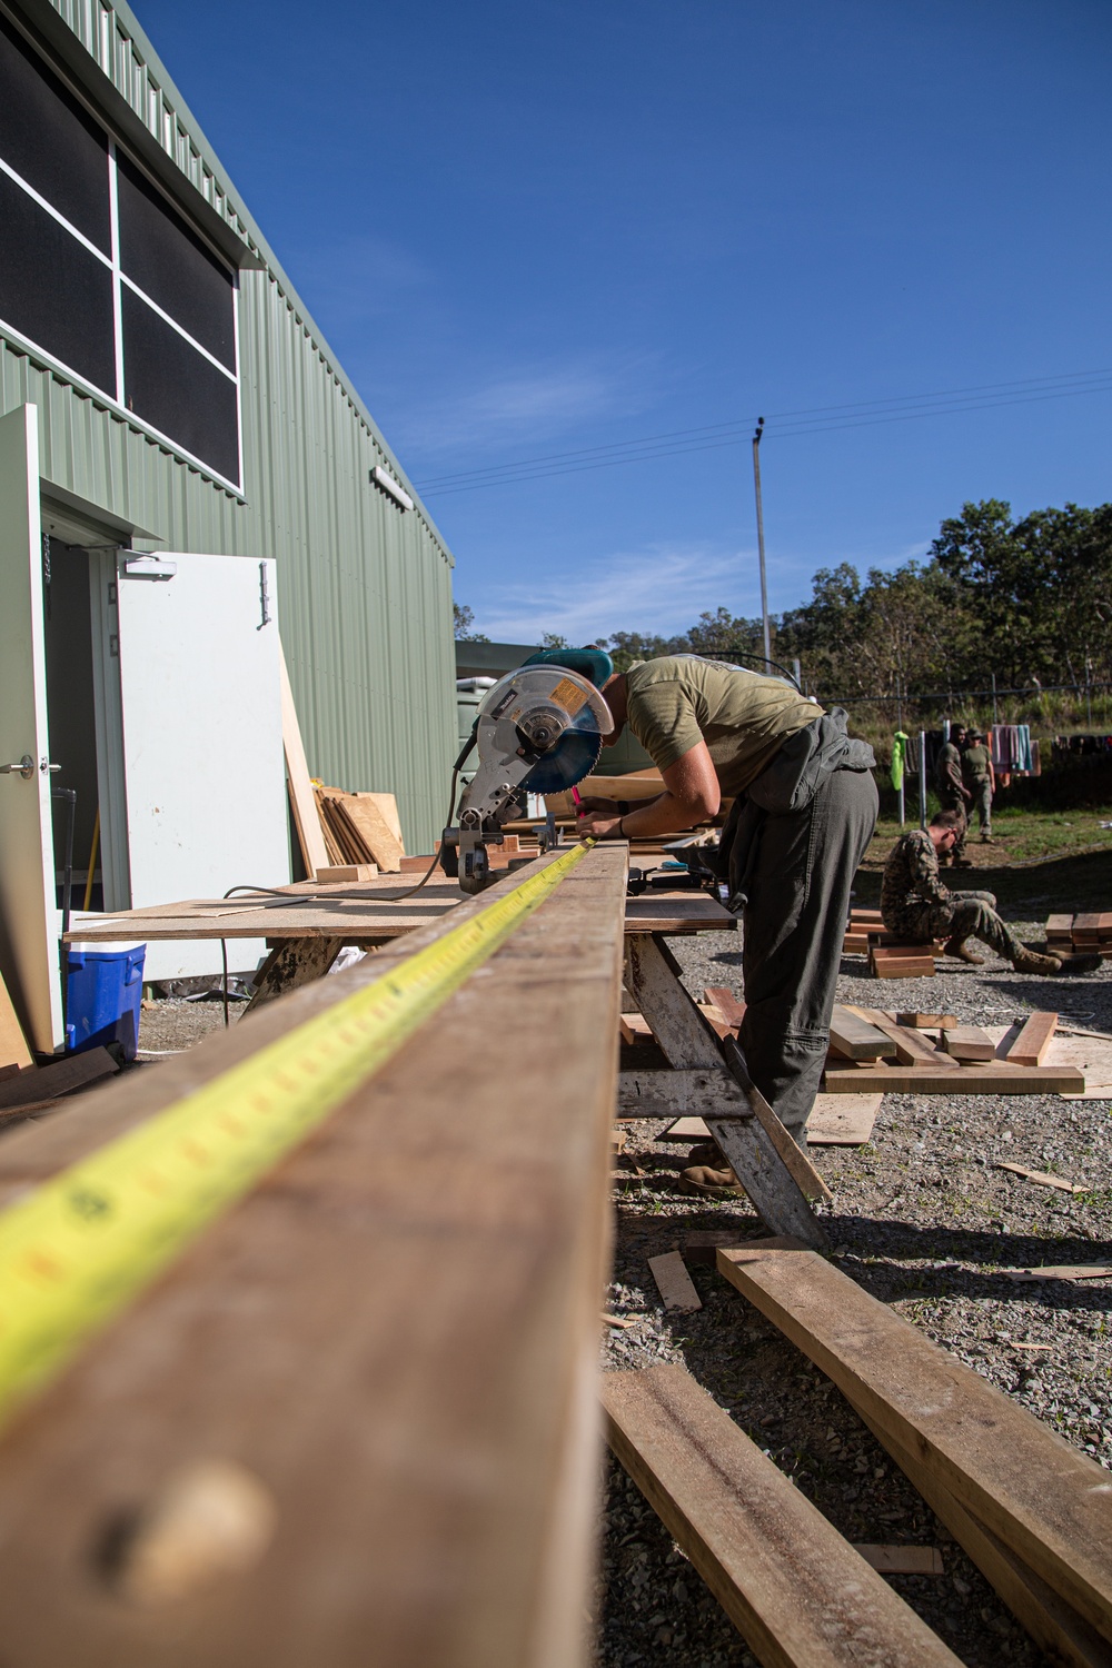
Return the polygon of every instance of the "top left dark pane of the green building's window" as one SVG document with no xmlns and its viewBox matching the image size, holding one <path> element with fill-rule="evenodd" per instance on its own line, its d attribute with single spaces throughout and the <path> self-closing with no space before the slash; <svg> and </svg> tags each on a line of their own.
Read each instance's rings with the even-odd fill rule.
<svg viewBox="0 0 1112 1668">
<path fill-rule="evenodd" d="M 0 157 L 90 244 L 112 254 L 105 133 L 3 17 Z"/>
</svg>

